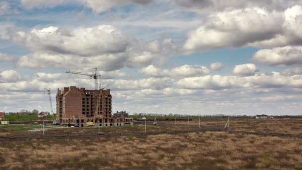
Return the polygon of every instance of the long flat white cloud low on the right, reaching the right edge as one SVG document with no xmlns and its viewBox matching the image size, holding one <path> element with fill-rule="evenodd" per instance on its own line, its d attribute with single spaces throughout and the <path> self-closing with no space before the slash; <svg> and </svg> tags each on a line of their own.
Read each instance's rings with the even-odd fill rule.
<svg viewBox="0 0 302 170">
<path fill-rule="evenodd" d="M 230 89 L 230 88 L 302 88 L 302 76 L 283 76 L 280 73 L 260 74 L 248 77 L 208 75 L 184 78 L 177 82 L 188 89 Z"/>
</svg>

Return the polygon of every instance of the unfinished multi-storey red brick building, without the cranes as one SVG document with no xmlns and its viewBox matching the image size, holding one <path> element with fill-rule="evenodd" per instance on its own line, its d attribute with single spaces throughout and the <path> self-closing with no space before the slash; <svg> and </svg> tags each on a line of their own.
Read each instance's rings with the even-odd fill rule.
<svg viewBox="0 0 302 170">
<path fill-rule="evenodd" d="M 61 124 L 84 127 L 86 122 L 94 117 L 98 95 L 99 90 L 87 90 L 76 86 L 58 88 L 56 97 L 57 119 Z M 96 114 L 96 126 L 133 125 L 132 118 L 114 118 L 112 116 L 110 89 L 102 91 L 99 109 Z"/>
</svg>

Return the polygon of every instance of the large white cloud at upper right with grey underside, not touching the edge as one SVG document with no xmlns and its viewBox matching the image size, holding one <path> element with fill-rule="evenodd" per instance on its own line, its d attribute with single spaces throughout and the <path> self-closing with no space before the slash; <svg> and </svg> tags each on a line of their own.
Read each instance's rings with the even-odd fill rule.
<svg viewBox="0 0 302 170">
<path fill-rule="evenodd" d="M 284 15 L 261 8 L 227 10 L 210 15 L 202 26 L 191 31 L 186 50 L 241 47 L 274 38 L 282 33 Z"/>
</svg>

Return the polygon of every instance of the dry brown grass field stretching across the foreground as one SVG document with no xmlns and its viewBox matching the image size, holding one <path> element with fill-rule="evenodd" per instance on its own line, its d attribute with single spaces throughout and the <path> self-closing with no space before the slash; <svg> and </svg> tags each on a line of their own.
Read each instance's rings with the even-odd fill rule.
<svg viewBox="0 0 302 170">
<path fill-rule="evenodd" d="M 178 122 L 178 123 L 185 123 Z M 174 122 L 168 122 L 174 123 Z M 188 122 L 186 122 L 188 123 Z M 226 121 L 203 121 L 222 125 Z M 198 124 L 191 121 L 190 124 Z M 301 134 L 302 120 L 231 120 L 232 130 Z M 150 131 L 174 127 L 148 126 Z M 179 128 L 179 127 L 177 127 Z M 106 127 L 102 132 L 143 131 L 145 126 Z M 97 128 L 49 128 L 46 133 L 88 133 Z M 28 133 L 28 132 L 23 132 Z M 40 132 L 32 132 L 40 133 Z M 0 169 L 302 169 L 302 139 L 227 132 L 37 139 L 0 142 Z"/>
</svg>

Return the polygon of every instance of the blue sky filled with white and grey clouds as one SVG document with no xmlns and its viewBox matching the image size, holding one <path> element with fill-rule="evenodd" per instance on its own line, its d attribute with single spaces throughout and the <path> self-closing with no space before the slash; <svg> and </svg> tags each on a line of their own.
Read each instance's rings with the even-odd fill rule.
<svg viewBox="0 0 302 170">
<path fill-rule="evenodd" d="M 113 112 L 302 115 L 302 0 L 0 0 L 0 111 L 109 85 Z"/>
</svg>

